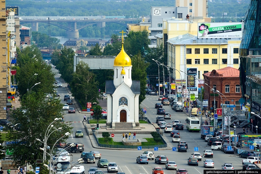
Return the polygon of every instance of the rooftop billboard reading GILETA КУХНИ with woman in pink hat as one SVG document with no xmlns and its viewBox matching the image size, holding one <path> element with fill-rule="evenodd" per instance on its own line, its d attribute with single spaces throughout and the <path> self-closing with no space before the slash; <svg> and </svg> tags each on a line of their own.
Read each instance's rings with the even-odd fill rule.
<svg viewBox="0 0 261 174">
<path fill-rule="evenodd" d="M 242 22 L 198 23 L 197 38 L 242 38 Z"/>
</svg>

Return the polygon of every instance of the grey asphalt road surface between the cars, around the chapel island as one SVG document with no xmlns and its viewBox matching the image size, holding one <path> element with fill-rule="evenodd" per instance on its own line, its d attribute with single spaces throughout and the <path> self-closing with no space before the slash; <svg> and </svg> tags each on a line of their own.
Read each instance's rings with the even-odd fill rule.
<svg viewBox="0 0 261 174">
<path fill-rule="evenodd" d="M 59 79 L 59 75 L 55 76 L 56 80 Z M 66 86 L 66 84 L 63 84 L 63 86 Z M 68 91 L 65 87 L 58 88 L 57 91 L 60 93 L 61 96 L 61 102 L 66 103 L 63 100 L 63 96 L 65 94 L 68 94 Z M 149 96 L 146 95 L 146 99 L 142 102 L 141 107 L 146 107 L 148 117 L 151 122 L 155 122 L 155 118 L 158 116 L 156 113 L 156 109 L 154 108 L 155 103 L 157 103 L 157 96 Z M 73 103 L 72 107 L 75 107 L 75 103 Z M 164 109 L 166 112 L 171 113 L 171 120 L 166 120 L 168 124 L 172 125 L 173 120 L 180 120 L 183 124 L 185 124 L 185 119 L 187 115 L 184 112 L 175 112 L 171 109 L 170 106 L 164 106 Z M 83 113 L 79 113 L 76 111 L 76 113 L 70 113 L 68 114 L 68 111 L 65 111 L 66 115 L 65 121 L 73 121 L 71 126 L 73 127 L 73 132 L 76 130 L 82 130 L 84 131 L 84 137 L 83 138 L 75 138 L 74 134 L 70 135 L 67 142 L 81 142 L 84 144 L 84 151 L 92 151 L 92 150 L 98 150 L 100 153 L 102 153 L 102 158 L 106 158 L 110 162 L 116 162 L 118 165 L 119 172 L 125 172 L 126 174 L 151 174 L 152 169 L 154 167 L 162 167 L 164 169 L 165 174 L 172 174 L 176 171 L 173 170 L 166 170 L 165 164 L 156 164 L 154 163 L 154 160 L 149 160 L 148 164 L 137 164 L 136 163 L 136 157 L 138 157 L 140 154 L 142 154 L 146 149 L 143 149 L 142 151 L 138 150 L 111 150 L 111 149 L 94 149 L 91 145 L 91 142 L 89 140 L 89 136 L 87 135 L 86 131 L 84 130 L 84 124 L 81 122 L 83 120 Z M 205 149 L 211 150 L 211 147 L 207 146 L 207 143 L 204 142 L 200 138 L 200 133 L 198 132 L 189 132 L 186 128 L 184 130 L 180 130 L 180 136 L 182 141 L 186 141 L 188 143 L 188 150 L 187 152 L 177 152 L 172 150 L 160 150 L 154 151 L 155 157 L 157 155 L 166 155 L 168 157 L 169 161 L 175 161 L 177 163 L 177 168 L 186 168 L 188 170 L 188 173 L 194 173 L 194 174 L 203 174 L 203 158 L 202 161 L 199 161 L 198 166 L 189 166 L 187 164 L 187 159 L 191 156 L 192 153 L 194 153 L 194 147 L 198 147 L 199 153 L 202 154 L 202 152 Z M 164 139 L 166 141 L 171 142 L 170 133 L 164 133 L 163 135 Z M 173 142 L 173 147 L 177 147 L 177 142 Z M 73 161 L 72 164 L 77 162 L 77 160 L 80 158 L 81 153 L 72 153 L 73 154 Z M 234 154 L 225 154 L 222 151 L 213 151 L 213 158 L 210 158 L 214 161 L 215 168 L 207 168 L 210 170 L 217 170 L 221 169 L 221 166 L 224 163 L 232 163 L 234 166 L 234 169 L 242 169 L 242 159 Z M 81 163 L 80 165 L 83 165 L 85 167 L 86 173 L 90 167 L 97 167 L 97 161 L 96 159 L 95 164 L 93 163 Z M 98 168 L 98 170 L 102 170 L 104 173 L 107 173 L 106 168 Z"/>
</svg>

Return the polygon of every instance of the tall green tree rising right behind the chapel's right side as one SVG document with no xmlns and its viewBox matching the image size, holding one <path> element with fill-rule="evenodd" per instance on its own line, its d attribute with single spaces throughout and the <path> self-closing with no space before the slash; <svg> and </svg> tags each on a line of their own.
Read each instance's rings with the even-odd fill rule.
<svg viewBox="0 0 261 174">
<path fill-rule="evenodd" d="M 147 73 L 146 69 L 149 66 L 149 63 L 145 63 L 144 58 L 140 54 L 140 52 L 131 57 L 131 64 L 132 64 L 132 73 L 131 78 L 132 80 L 139 80 L 140 81 L 140 95 L 139 95 L 139 105 L 142 101 L 146 98 L 146 80 L 147 80 Z"/>
</svg>

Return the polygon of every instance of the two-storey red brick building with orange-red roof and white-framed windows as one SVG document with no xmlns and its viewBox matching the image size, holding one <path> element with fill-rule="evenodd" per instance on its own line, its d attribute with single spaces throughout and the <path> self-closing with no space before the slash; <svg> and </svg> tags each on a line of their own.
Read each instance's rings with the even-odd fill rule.
<svg viewBox="0 0 261 174">
<path fill-rule="evenodd" d="M 240 78 L 239 70 L 232 67 L 225 67 L 222 69 L 213 69 L 212 72 L 207 72 L 203 74 L 204 77 L 204 99 L 209 100 L 209 108 L 214 108 L 214 96 L 216 108 L 221 108 L 222 100 L 216 92 L 213 92 L 211 88 L 219 91 L 224 96 L 222 96 L 223 103 L 226 103 L 226 99 L 231 105 L 240 105 L 238 100 L 242 97 L 240 89 Z M 209 87 L 209 86 L 211 87 Z M 240 110 L 240 106 L 234 108 L 235 110 Z"/>
</svg>

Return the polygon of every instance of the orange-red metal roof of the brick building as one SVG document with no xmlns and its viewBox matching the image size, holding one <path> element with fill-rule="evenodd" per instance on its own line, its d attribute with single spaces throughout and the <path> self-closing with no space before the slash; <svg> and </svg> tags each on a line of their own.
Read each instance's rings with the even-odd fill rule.
<svg viewBox="0 0 261 174">
<path fill-rule="evenodd" d="M 211 72 L 204 73 L 205 76 L 212 77 L 239 77 L 239 70 L 233 67 L 213 69 Z"/>
</svg>

